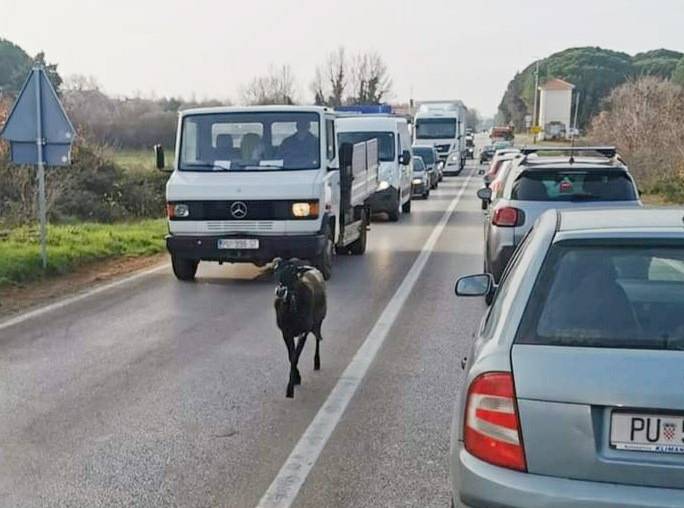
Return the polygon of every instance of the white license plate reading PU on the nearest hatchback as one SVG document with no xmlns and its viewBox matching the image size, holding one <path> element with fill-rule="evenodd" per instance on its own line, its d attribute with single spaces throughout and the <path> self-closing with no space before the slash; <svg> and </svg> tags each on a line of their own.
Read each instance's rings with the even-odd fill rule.
<svg viewBox="0 0 684 508">
<path fill-rule="evenodd" d="M 684 415 L 613 412 L 610 445 L 618 450 L 684 453 Z"/>
</svg>

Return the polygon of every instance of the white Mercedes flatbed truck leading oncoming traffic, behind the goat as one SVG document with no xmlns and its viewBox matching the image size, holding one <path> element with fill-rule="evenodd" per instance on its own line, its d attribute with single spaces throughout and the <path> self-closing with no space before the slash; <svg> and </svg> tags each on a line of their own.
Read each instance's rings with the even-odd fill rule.
<svg viewBox="0 0 684 508">
<path fill-rule="evenodd" d="M 155 147 L 159 169 L 164 151 Z M 376 141 L 337 146 L 323 107 L 211 107 L 180 113 L 166 185 L 173 271 L 200 261 L 310 261 L 327 278 L 333 255 L 363 254 L 378 186 Z"/>
</svg>

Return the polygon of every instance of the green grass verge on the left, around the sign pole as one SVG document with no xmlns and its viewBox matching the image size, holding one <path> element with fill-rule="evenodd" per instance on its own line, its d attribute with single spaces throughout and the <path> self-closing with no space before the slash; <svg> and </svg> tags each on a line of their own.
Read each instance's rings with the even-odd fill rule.
<svg viewBox="0 0 684 508">
<path fill-rule="evenodd" d="M 0 287 L 69 273 L 97 260 L 157 254 L 165 248 L 166 231 L 165 219 L 49 226 L 43 270 L 38 229 L 10 229 L 0 233 Z"/>
</svg>

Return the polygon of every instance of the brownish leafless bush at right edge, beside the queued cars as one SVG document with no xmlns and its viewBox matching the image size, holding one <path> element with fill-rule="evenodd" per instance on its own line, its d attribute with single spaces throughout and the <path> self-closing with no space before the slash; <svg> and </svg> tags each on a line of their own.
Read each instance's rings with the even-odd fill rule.
<svg viewBox="0 0 684 508">
<path fill-rule="evenodd" d="M 616 145 L 643 191 L 684 202 L 684 89 L 641 77 L 615 88 L 603 105 L 591 141 Z"/>
</svg>

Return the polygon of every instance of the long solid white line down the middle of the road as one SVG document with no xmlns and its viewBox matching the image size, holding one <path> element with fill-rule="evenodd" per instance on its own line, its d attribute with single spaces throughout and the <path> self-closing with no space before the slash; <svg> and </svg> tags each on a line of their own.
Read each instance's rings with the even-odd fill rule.
<svg viewBox="0 0 684 508">
<path fill-rule="evenodd" d="M 423 268 L 425 268 L 430 254 L 432 254 L 432 249 L 444 231 L 451 214 L 456 209 L 456 206 L 458 206 L 461 196 L 468 188 L 472 176 L 473 171 L 466 178 L 460 191 L 449 204 L 435 229 L 432 230 L 432 234 L 414 261 L 413 266 L 406 274 L 394 296 L 392 296 L 387 307 L 380 314 L 373 329 L 354 355 L 354 358 L 347 365 L 347 368 L 330 392 L 330 395 L 328 395 L 323 406 L 318 410 L 318 413 L 304 431 L 302 437 L 299 438 L 273 483 L 271 483 L 259 501 L 257 508 L 287 508 L 294 502 L 318 456 L 323 451 L 330 435 L 340 421 L 349 401 L 363 381 L 371 363 L 373 363 L 375 355 L 385 341 Z"/>
</svg>

